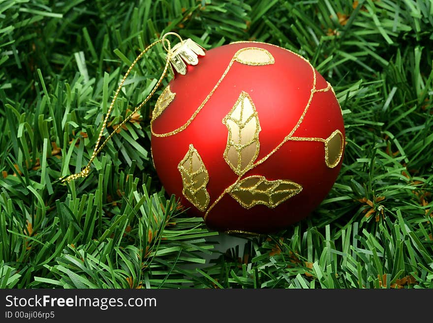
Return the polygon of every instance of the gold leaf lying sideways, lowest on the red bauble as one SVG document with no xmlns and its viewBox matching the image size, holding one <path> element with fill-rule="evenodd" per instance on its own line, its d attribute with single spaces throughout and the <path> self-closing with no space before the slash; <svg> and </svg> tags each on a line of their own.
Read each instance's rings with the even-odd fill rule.
<svg viewBox="0 0 433 323">
<path fill-rule="evenodd" d="M 245 208 L 257 204 L 272 208 L 301 191 L 302 186 L 290 180 L 267 180 L 263 176 L 253 175 L 241 179 L 229 194 Z"/>
</svg>

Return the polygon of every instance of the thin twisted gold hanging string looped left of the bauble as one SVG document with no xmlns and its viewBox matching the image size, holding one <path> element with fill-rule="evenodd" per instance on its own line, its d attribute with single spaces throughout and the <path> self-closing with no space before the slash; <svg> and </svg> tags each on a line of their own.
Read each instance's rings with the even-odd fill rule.
<svg viewBox="0 0 433 323">
<path fill-rule="evenodd" d="M 107 126 L 107 122 L 108 122 L 108 118 L 110 117 L 111 111 L 113 110 L 113 106 L 114 106 L 114 102 L 116 101 L 120 90 L 122 89 L 124 82 L 126 80 L 126 78 L 128 77 L 129 73 L 131 72 L 132 68 L 135 66 L 135 64 L 143 57 L 144 54 L 146 54 L 152 47 L 154 47 L 156 44 L 161 43 L 161 42 L 167 42 L 167 46 L 168 46 L 168 50 L 167 50 L 167 56 L 166 56 L 166 62 L 165 62 L 165 66 L 164 66 L 164 70 L 162 71 L 161 76 L 159 77 L 158 82 L 156 82 L 155 87 L 152 89 L 152 91 L 149 93 L 149 95 L 146 97 L 146 99 L 141 102 L 135 109 L 134 111 L 132 111 L 121 123 L 119 123 L 116 128 L 108 135 L 108 137 L 104 140 L 104 142 L 99 146 L 99 143 L 102 139 L 104 130 Z M 164 48 L 165 48 L 165 44 L 164 44 Z M 93 160 L 96 158 L 97 154 L 102 150 L 102 148 L 107 144 L 107 142 L 111 139 L 111 137 L 114 136 L 114 134 L 117 132 L 118 129 L 120 129 L 138 110 L 140 110 L 145 104 L 146 102 L 149 101 L 149 99 L 155 94 L 156 89 L 159 87 L 159 85 L 162 82 L 162 79 L 164 78 L 164 76 L 167 74 L 167 69 L 168 66 L 170 64 L 170 59 L 172 58 L 172 52 L 170 51 L 171 49 L 171 44 L 170 41 L 168 39 L 165 38 L 165 35 L 162 39 L 156 40 L 155 42 L 153 42 L 152 44 L 150 44 L 148 47 L 146 47 L 138 56 L 137 58 L 132 62 L 131 66 L 129 66 L 128 70 L 126 71 L 124 78 L 122 79 L 121 83 L 119 84 L 119 87 L 116 90 L 116 93 L 114 94 L 113 100 L 111 101 L 110 107 L 108 108 L 107 111 L 107 115 L 105 116 L 104 121 L 102 122 L 102 127 L 101 130 L 99 131 L 99 136 L 98 139 L 96 140 L 96 144 L 95 147 L 93 149 L 93 153 L 92 156 L 89 160 L 89 163 L 87 164 L 87 166 L 85 166 L 83 168 L 83 170 L 80 173 L 77 174 L 72 174 L 69 175 L 65 178 L 61 178 L 62 182 L 69 182 L 71 180 L 80 178 L 80 177 L 87 177 L 90 173 L 90 167 L 93 163 Z"/>
</svg>

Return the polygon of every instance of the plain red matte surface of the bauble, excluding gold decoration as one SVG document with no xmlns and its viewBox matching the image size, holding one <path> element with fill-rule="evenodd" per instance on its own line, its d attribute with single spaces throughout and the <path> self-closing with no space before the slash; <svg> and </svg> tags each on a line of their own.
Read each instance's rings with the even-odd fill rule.
<svg viewBox="0 0 433 323">
<path fill-rule="evenodd" d="M 267 44 L 230 44 L 207 51 L 205 57 L 199 58 L 198 65 L 188 66 L 186 75 L 176 76 L 170 83 L 176 97 L 155 120 L 154 131 L 165 133 L 182 126 L 214 88 L 233 55 L 244 47 L 268 50 L 274 56 L 275 63 L 250 66 L 235 62 L 213 96 L 184 131 L 169 137 L 152 137 L 154 163 L 164 188 L 169 194 L 181 198 L 181 203 L 190 207 L 192 215 L 204 214 L 182 195 L 182 177 L 177 166 L 188 151 L 189 144 L 193 144 L 209 172 L 209 205 L 236 181 L 238 176 L 223 159 L 227 128 L 222 119 L 241 91 L 250 95 L 259 116 L 262 130 L 258 159 L 266 156 L 290 133 L 309 100 L 313 71 L 306 61 Z M 326 81 L 314 72 L 316 88 L 326 88 Z M 334 93 L 331 90 L 316 92 L 294 136 L 325 139 L 336 129 L 344 134 L 343 119 Z M 302 192 L 272 209 L 263 205 L 246 209 L 231 196 L 225 195 L 210 211 L 206 223 L 222 231 L 267 233 L 305 218 L 326 197 L 340 171 L 341 162 L 330 169 L 325 164 L 324 156 L 323 143 L 285 143 L 245 176 L 262 175 L 268 180 L 292 180 L 303 186 Z"/>
</svg>

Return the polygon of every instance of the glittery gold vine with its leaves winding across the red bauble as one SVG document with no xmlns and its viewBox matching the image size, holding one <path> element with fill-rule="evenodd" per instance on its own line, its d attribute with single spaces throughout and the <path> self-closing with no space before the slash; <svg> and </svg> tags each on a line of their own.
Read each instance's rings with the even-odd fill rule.
<svg viewBox="0 0 433 323">
<path fill-rule="evenodd" d="M 276 45 L 272 46 L 278 47 Z M 246 178 L 242 178 L 248 171 L 265 162 L 272 154 L 274 154 L 282 145 L 284 145 L 289 140 L 323 142 L 325 144 L 326 165 L 329 168 L 333 168 L 336 167 L 340 162 L 343 150 L 342 143 L 344 139 L 339 130 L 334 131 L 327 139 L 293 137 L 294 132 L 299 128 L 302 121 L 304 120 L 305 115 L 307 114 L 314 93 L 326 92 L 330 89 L 334 92 L 334 89 L 328 82 L 326 88 L 317 89 L 317 80 L 314 67 L 309 63 L 307 59 L 291 51 L 289 52 L 298 56 L 309 64 L 313 73 L 313 85 L 310 90 L 309 100 L 301 117 L 299 118 L 293 129 L 290 131 L 290 133 L 283 139 L 283 141 L 278 144 L 278 146 L 275 147 L 266 156 L 254 162 L 259 152 L 260 143 L 258 140 L 258 134 L 261 129 L 254 103 L 252 102 L 249 95 L 243 91 L 241 92 L 241 95 L 239 96 L 232 110 L 223 119 L 223 123 L 227 126 L 228 129 L 227 146 L 224 151 L 224 159 L 226 160 L 227 164 L 232 168 L 232 170 L 239 176 L 238 179 L 229 187 L 227 187 L 214 201 L 214 203 L 210 207 L 208 207 L 210 198 L 206 190 L 206 185 L 209 181 L 209 175 L 206 167 L 201 160 L 200 155 L 198 154 L 198 151 L 192 145 L 190 145 L 186 156 L 179 163 L 178 169 L 181 172 L 184 183 L 183 194 L 188 199 L 188 201 L 191 202 L 194 206 L 196 206 L 199 210 L 206 211 L 204 216 L 205 221 L 211 209 L 215 207 L 216 204 L 227 193 L 230 194 L 238 203 L 240 203 L 243 207 L 246 208 L 250 208 L 257 204 L 263 204 L 268 207 L 275 207 L 280 203 L 286 201 L 290 197 L 300 193 L 302 191 L 302 186 L 289 180 L 278 179 L 270 181 L 267 180 L 264 176 L 248 176 Z M 202 104 L 196 109 L 196 111 L 192 114 L 192 116 L 186 121 L 184 125 L 167 133 L 156 134 L 153 131 L 152 126 L 155 118 L 160 115 L 159 113 L 152 118 L 152 134 L 156 137 L 168 137 L 185 130 L 186 127 L 197 116 L 200 110 L 209 101 L 216 88 L 218 88 L 219 84 L 225 78 L 226 74 L 229 72 L 231 66 L 235 61 L 247 65 L 257 66 L 273 64 L 275 62 L 269 51 L 262 48 L 248 47 L 237 51 L 214 88 L 211 90 L 211 92 L 207 95 Z M 168 102 L 168 104 L 170 102 Z M 244 110 L 246 110 L 245 115 Z M 246 129 L 244 131 L 246 134 L 243 135 L 242 132 L 244 128 Z M 336 149 L 336 147 L 338 148 Z M 192 167 L 192 159 L 194 157 L 196 158 L 196 160 L 199 160 L 200 164 L 197 170 Z M 188 167 L 189 173 L 186 172 L 186 169 L 188 169 Z M 197 175 L 201 175 L 199 176 L 201 178 L 200 180 L 195 179 L 194 176 Z"/>
</svg>

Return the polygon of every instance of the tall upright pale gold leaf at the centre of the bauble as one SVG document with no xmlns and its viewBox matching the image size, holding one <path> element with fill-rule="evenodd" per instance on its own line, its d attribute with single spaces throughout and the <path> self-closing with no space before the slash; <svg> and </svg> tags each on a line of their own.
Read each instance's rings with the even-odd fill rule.
<svg viewBox="0 0 433 323">
<path fill-rule="evenodd" d="M 242 175 L 252 166 L 260 149 L 259 117 L 247 92 L 241 92 L 233 108 L 222 119 L 222 123 L 228 130 L 223 157 L 237 175 Z"/>
</svg>

